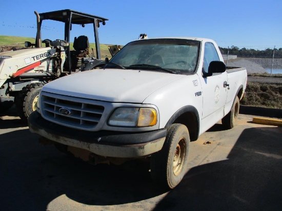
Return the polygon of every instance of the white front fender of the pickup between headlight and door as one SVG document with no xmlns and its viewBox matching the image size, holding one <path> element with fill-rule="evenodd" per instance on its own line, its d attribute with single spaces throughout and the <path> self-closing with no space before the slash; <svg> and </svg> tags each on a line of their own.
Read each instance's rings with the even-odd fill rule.
<svg viewBox="0 0 282 211">
<path fill-rule="evenodd" d="M 154 104 L 158 108 L 160 128 L 165 128 L 169 124 L 175 123 L 176 120 L 177 123 L 189 126 L 192 124 L 192 119 L 194 122 L 199 122 L 202 119 L 203 95 L 199 85 L 199 78 L 196 74 L 187 75 L 159 88 L 149 95 L 143 103 Z M 186 114 L 185 118 L 183 114 Z M 180 120 L 179 118 L 184 119 Z M 188 119 L 191 120 L 188 121 Z M 197 126 L 193 127 L 193 131 L 197 131 L 195 132 L 197 134 L 198 128 L 197 123 Z M 189 131 L 189 133 L 191 132 Z"/>
</svg>

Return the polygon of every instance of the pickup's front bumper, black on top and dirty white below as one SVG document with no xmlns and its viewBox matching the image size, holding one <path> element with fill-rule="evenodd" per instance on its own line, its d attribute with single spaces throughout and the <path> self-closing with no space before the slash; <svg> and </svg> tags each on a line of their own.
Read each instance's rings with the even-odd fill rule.
<svg viewBox="0 0 282 211">
<path fill-rule="evenodd" d="M 162 149 L 166 129 L 129 133 L 115 131 L 81 131 L 45 120 L 38 112 L 29 116 L 29 130 L 49 140 L 88 150 L 105 157 L 135 158 Z"/>
</svg>

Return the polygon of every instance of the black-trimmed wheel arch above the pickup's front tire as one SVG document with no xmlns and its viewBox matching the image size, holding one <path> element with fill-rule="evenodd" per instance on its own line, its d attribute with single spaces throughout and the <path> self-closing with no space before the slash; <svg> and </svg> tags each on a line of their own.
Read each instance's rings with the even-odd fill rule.
<svg viewBox="0 0 282 211">
<path fill-rule="evenodd" d="M 185 106 L 175 112 L 166 124 L 168 128 L 173 123 L 180 123 L 187 126 L 190 141 L 195 141 L 199 137 L 199 114 L 195 107 Z"/>
</svg>

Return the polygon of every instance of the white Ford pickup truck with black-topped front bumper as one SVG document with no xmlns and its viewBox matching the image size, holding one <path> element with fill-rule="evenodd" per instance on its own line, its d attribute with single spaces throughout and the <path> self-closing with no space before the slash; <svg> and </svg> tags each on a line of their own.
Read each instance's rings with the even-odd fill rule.
<svg viewBox="0 0 282 211">
<path fill-rule="evenodd" d="M 29 117 L 39 140 L 95 164 L 149 158 L 153 180 L 174 188 L 190 141 L 235 125 L 247 71 L 226 68 L 211 39 L 136 40 L 106 62 L 43 87 Z"/>
</svg>

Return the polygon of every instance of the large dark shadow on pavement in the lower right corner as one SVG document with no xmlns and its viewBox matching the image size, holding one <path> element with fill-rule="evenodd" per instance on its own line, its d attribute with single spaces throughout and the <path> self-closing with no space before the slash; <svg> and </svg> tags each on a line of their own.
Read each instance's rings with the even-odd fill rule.
<svg viewBox="0 0 282 211">
<path fill-rule="evenodd" d="M 192 168 L 155 210 L 280 210 L 282 128 L 250 128 L 228 160 Z"/>
</svg>

